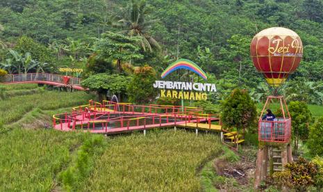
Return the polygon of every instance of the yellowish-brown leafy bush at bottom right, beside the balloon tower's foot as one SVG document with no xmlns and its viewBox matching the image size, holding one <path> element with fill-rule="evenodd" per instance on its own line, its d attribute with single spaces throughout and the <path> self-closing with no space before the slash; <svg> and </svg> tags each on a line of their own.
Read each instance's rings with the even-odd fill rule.
<svg viewBox="0 0 323 192">
<path fill-rule="evenodd" d="M 297 191 L 306 191 L 308 186 L 315 184 L 316 174 L 315 163 L 299 157 L 297 161 L 287 163 L 285 170 L 274 173 L 272 177 L 277 186 L 288 186 Z"/>
</svg>

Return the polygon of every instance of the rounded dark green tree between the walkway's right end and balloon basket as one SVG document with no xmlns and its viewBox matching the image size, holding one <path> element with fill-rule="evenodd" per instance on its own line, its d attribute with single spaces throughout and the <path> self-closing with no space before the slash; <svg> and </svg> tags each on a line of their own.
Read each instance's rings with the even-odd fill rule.
<svg viewBox="0 0 323 192">
<path fill-rule="evenodd" d="M 221 103 L 221 119 L 225 127 L 245 128 L 254 125 L 256 105 L 247 90 L 235 89 Z"/>
</svg>

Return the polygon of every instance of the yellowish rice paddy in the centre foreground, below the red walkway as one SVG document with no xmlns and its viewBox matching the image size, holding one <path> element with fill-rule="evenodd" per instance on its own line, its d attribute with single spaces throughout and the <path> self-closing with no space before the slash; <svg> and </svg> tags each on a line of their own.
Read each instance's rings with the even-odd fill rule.
<svg viewBox="0 0 323 192">
<path fill-rule="evenodd" d="M 199 191 L 198 167 L 221 150 L 217 136 L 149 131 L 109 140 L 84 191 Z"/>
</svg>

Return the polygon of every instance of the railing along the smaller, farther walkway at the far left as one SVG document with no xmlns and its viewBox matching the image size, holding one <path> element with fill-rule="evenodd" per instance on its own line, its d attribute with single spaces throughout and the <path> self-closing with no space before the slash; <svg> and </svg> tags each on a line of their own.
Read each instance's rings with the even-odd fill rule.
<svg viewBox="0 0 323 192">
<path fill-rule="evenodd" d="M 5 83 L 32 82 L 32 81 L 50 81 L 54 83 L 64 83 L 63 75 L 49 73 L 27 73 L 27 74 L 7 74 Z M 81 79 L 69 77 L 70 85 L 80 85 Z"/>
</svg>

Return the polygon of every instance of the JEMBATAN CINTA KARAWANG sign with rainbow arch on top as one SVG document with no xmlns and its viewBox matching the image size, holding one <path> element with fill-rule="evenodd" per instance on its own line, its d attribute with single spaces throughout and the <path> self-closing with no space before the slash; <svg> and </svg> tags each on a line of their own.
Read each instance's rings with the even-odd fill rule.
<svg viewBox="0 0 323 192">
<path fill-rule="evenodd" d="M 168 74 L 175 70 L 185 69 L 190 70 L 199 75 L 199 77 L 207 80 L 206 73 L 201 68 L 187 59 L 179 59 L 169 65 L 161 77 L 165 78 Z M 156 81 L 154 88 L 160 89 L 160 97 L 171 97 L 175 99 L 192 99 L 192 100 L 206 100 L 207 93 L 216 92 L 217 88 L 213 83 L 192 83 L 181 81 Z"/>
</svg>

